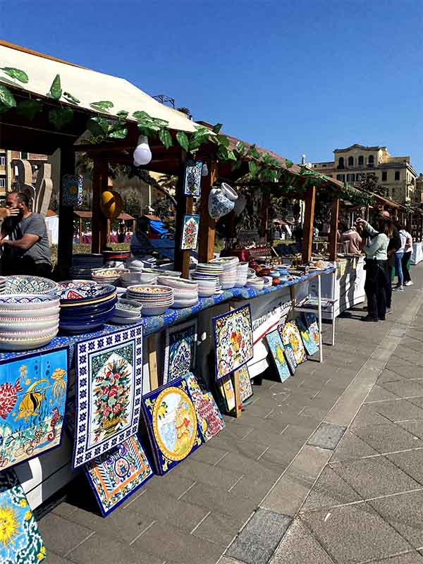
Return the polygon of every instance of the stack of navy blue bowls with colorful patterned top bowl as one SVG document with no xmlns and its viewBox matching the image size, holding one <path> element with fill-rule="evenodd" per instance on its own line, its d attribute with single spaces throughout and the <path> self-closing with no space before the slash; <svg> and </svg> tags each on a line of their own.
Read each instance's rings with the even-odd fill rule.
<svg viewBox="0 0 423 564">
<path fill-rule="evenodd" d="M 69 333 L 99 329 L 114 314 L 116 288 L 93 281 L 59 282 L 60 328 Z"/>
</svg>

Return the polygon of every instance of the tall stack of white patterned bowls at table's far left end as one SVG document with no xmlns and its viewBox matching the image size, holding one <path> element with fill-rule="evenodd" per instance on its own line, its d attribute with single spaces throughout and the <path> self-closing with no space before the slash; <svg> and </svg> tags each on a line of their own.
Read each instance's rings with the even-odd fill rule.
<svg viewBox="0 0 423 564">
<path fill-rule="evenodd" d="M 57 295 L 0 296 L 0 350 L 30 350 L 47 345 L 59 331 Z"/>
</svg>

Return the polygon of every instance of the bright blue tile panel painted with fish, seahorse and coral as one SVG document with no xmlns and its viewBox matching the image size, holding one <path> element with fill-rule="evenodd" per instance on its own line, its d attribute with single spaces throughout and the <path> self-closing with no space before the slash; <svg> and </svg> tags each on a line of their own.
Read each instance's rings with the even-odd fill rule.
<svg viewBox="0 0 423 564">
<path fill-rule="evenodd" d="M 0 471 L 59 446 L 68 348 L 0 363 Z"/>
</svg>

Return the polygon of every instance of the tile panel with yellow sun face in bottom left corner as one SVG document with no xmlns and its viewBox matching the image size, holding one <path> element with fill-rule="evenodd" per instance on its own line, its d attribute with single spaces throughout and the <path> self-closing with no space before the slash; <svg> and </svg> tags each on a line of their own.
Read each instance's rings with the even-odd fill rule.
<svg viewBox="0 0 423 564">
<path fill-rule="evenodd" d="M 0 474 L 0 562 L 36 564 L 46 558 L 37 521 L 16 473 Z"/>
</svg>

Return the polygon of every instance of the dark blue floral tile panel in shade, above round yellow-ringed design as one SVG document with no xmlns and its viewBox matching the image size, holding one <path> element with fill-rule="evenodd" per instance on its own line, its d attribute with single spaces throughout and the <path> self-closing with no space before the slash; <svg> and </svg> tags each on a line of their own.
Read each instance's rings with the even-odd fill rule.
<svg viewBox="0 0 423 564">
<path fill-rule="evenodd" d="M 197 319 L 166 329 L 163 383 L 192 372 L 197 351 Z"/>
</svg>

